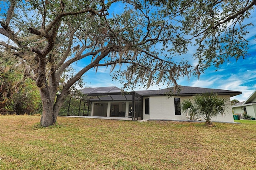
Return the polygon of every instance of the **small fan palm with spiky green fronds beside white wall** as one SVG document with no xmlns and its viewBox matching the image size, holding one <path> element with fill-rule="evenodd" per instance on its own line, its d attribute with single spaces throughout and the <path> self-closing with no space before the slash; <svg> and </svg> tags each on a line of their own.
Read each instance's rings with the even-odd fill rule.
<svg viewBox="0 0 256 170">
<path fill-rule="evenodd" d="M 181 107 L 183 112 L 189 110 L 193 115 L 201 115 L 206 124 L 210 125 L 212 117 L 226 114 L 227 102 L 227 99 L 219 97 L 217 93 L 203 93 L 196 95 L 192 101 L 183 101 Z"/>
</svg>

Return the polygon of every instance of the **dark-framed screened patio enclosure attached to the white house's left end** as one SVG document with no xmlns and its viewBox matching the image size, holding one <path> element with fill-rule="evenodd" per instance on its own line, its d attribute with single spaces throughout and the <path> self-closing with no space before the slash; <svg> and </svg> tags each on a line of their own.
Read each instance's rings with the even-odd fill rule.
<svg viewBox="0 0 256 170">
<path fill-rule="evenodd" d="M 135 91 L 124 92 L 118 87 L 96 87 L 84 88 L 81 92 L 90 97 L 88 101 L 91 116 L 142 119 L 142 96 Z"/>
</svg>

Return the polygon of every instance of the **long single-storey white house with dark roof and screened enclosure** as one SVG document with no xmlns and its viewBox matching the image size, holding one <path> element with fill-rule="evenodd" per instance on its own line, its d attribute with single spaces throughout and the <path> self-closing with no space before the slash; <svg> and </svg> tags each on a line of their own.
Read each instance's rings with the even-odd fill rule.
<svg viewBox="0 0 256 170">
<path fill-rule="evenodd" d="M 130 120 L 187 120 L 180 109 L 184 99 L 202 93 L 218 93 L 228 99 L 228 109 L 225 116 L 214 117 L 212 121 L 234 122 L 230 97 L 241 94 L 240 91 L 187 86 L 180 86 L 179 89 L 179 93 L 173 92 L 172 88 L 122 92 L 118 87 L 99 87 L 81 91 L 90 96 L 91 116 L 126 117 Z"/>
</svg>

